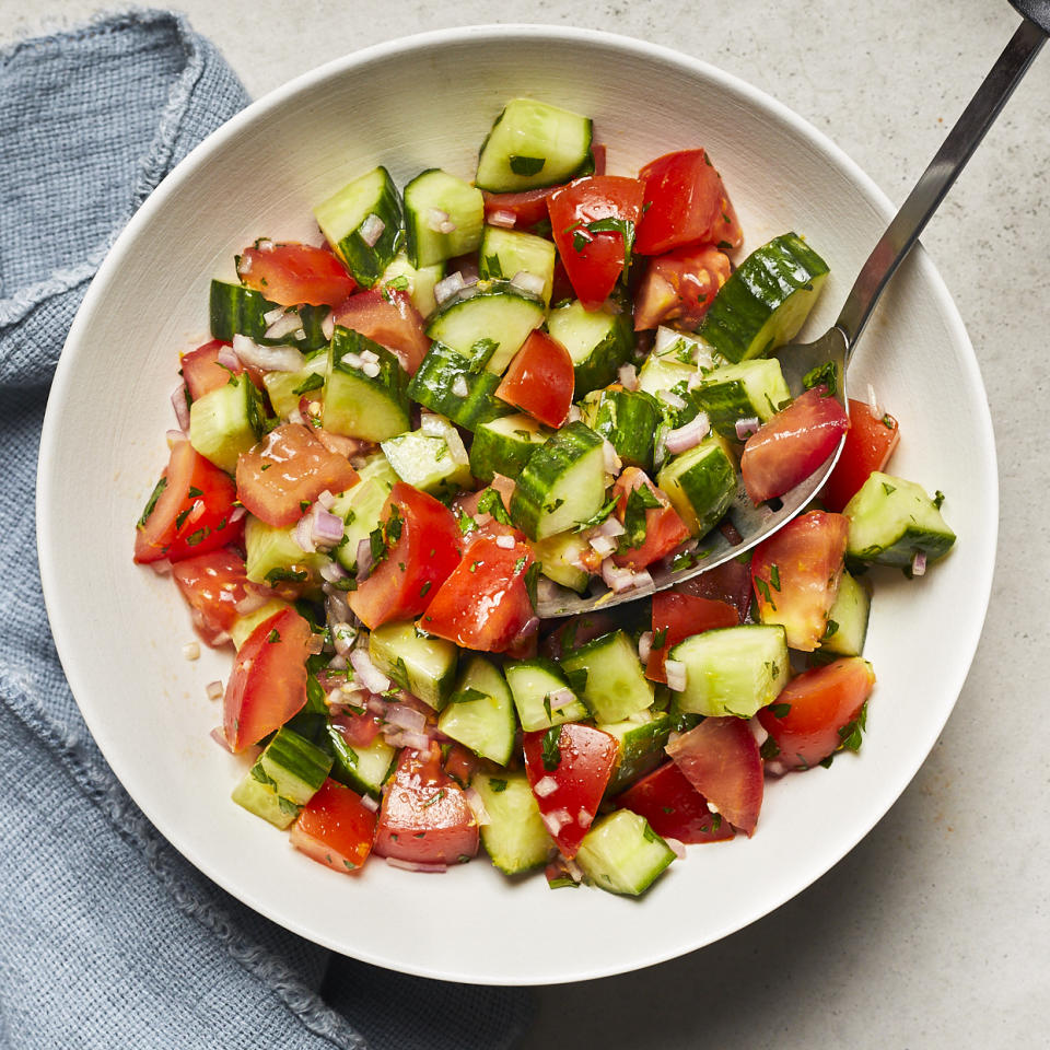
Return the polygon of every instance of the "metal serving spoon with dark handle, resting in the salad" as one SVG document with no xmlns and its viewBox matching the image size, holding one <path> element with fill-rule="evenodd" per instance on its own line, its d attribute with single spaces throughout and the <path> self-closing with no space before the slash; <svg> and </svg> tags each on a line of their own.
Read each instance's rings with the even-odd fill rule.
<svg viewBox="0 0 1050 1050">
<path fill-rule="evenodd" d="M 836 397 L 845 405 L 845 366 L 878 296 L 919 240 L 926 222 L 937 210 L 1050 33 L 1050 0 L 1011 0 L 1011 3 L 1025 16 L 1025 21 L 875 245 L 845 298 L 838 320 L 814 342 L 790 345 L 778 350 L 784 378 L 793 394 L 802 393 L 803 376 L 810 369 L 833 362 L 838 373 Z M 663 591 L 737 557 L 775 533 L 813 499 L 831 472 L 841 451 L 842 441 L 805 481 L 784 493 L 779 501 L 773 501 L 779 503 L 777 509 L 768 503 L 755 506 L 744 486 L 737 485 L 736 495 L 722 525 L 701 539 L 701 547 L 695 552 L 692 564 L 687 568 L 675 571 L 651 568 L 652 584 L 619 594 L 603 587 L 578 595 L 563 587 L 551 587 L 549 592 L 540 594 L 536 611 L 541 617 L 552 617 L 587 612 L 595 608 L 607 609 Z"/>
</svg>

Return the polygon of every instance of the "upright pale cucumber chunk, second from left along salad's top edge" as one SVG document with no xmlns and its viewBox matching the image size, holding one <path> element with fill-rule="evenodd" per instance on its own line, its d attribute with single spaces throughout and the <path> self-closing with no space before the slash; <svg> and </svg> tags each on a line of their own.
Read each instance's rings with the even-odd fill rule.
<svg viewBox="0 0 1050 1050">
<path fill-rule="evenodd" d="M 476 250 L 483 223 L 481 190 L 440 167 L 422 172 L 405 187 L 405 233 L 415 267 Z"/>
</svg>

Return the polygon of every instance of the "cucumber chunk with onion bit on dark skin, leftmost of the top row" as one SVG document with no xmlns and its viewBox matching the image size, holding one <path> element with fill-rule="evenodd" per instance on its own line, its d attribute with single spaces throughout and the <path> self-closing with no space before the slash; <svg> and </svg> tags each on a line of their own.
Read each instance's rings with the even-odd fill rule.
<svg viewBox="0 0 1050 1050">
<path fill-rule="evenodd" d="M 397 187 L 385 167 L 348 183 L 337 194 L 314 209 L 320 232 L 364 288 L 378 281 L 401 244 L 401 206 Z M 383 223 L 383 230 L 373 244 L 370 231 L 362 236 L 365 223 Z"/>
</svg>

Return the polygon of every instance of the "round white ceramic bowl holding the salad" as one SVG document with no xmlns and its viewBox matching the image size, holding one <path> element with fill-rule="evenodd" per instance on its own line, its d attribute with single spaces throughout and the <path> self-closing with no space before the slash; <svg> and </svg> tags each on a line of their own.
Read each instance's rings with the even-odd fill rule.
<svg viewBox="0 0 1050 1050">
<path fill-rule="evenodd" d="M 878 686 L 859 757 L 770 783 L 754 839 L 693 847 L 640 901 L 511 882 L 483 859 L 443 876 L 307 860 L 229 801 L 245 759 L 210 738 L 205 685 L 228 653 L 180 656 L 190 620 L 170 580 L 131 563 L 132 527 L 166 460 L 176 354 L 207 338 L 213 276 L 260 235 L 312 238 L 311 207 L 376 163 L 405 180 L 469 177 L 502 103 L 534 95 L 595 118 L 611 173 L 676 148 L 714 158 L 752 248 L 794 229 L 830 261 L 810 331 L 833 318 L 891 213 L 820 132 L 703 62 L 541 26 L 428 34 L 332 62 L 211 136 L 150 197 L 70 332 L 40 456 L 39 553 L 73 693 L 131 796 L 202 872 L 312 941 L 381 966 L 482 983 L 572 981 L 709 944 L 777 908 L 849 851 L 933 746 L 977 646 L 995 551 L 984 392 L 959 316 L 921 252 L 853 364 L 900 419 L 892 469 L 947 493 L 956 550 L 913 583 L 879 576 L 865 655 Z M 74 509 L 74 513 L 71 513 Z"/>
</svg>

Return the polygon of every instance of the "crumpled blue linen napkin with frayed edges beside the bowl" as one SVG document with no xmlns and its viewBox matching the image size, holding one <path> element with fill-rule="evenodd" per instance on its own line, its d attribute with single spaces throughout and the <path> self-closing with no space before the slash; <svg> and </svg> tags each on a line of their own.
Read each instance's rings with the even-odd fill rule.
<svg viewBox="0 0 1050 1050">
<path fill-rule="evenodd" d="M 166 12 L 0 51 L 0 1046 L 511 1047 L 524 993 L 330 956 L 187 864 L 98 752 L 48 630 L 34 485 L 66 332 L 124 223 L 246 102 Z"/>
</svg>

